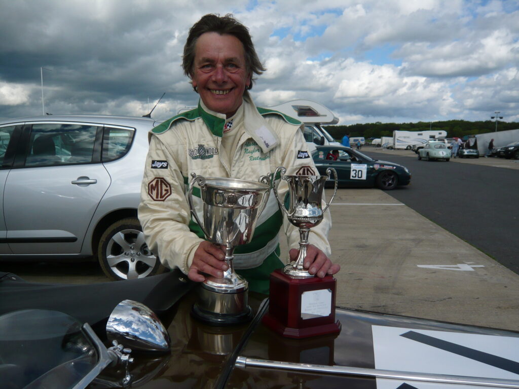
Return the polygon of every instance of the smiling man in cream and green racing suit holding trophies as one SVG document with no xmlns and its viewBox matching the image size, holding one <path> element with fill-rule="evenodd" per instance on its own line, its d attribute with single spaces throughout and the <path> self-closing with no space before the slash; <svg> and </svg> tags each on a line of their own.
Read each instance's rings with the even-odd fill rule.
<svg viewBox="0 0 519 389">
<path fill-rule="evenodd" d="M 227 265 L 222 248 L 204 240 L 191 218 L 186 187 L 192 172 L 257 180 L 282 165 L 288 175 L 318 173 L 300 130 L 302 123 L 258 109 L 252 102 L 248 90 L 253 86 L 253 73 L 259 75 L 265 69 L 247 27 L 231 15 L 203 16 L 189 30 L 182 66 L 200 101 L 196 109 L 163 122 L 150 133 L 139 219 L 148 247 L 163 265 L 179 267 L 190 280 L 203 282 L 207 275 L 221 277 Z M 280 194 L 284 196 L 287 189 L 282 180 Z M 194 199 L 195 211 L 201 215 L 202 202 Z M 309 237 L 304 265 L 319 277 L 340 269 L 328 258 L 330 226 L 327 212 Z M 253 240 L 236 248 L 241 254 L 235 254 L 234 267 L 253 291 L 268 293 L 269 274 L 284 266 L 279 259 L 281 227 L 294 260 L 298 230 L 270 196 Z"/>
</svg>

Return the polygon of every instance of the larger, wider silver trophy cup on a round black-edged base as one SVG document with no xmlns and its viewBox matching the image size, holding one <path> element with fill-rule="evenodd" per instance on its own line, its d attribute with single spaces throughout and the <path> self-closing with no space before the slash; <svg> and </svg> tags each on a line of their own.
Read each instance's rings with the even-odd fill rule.
<svg viewBox="0 0 519 389">
<path fill-rule="evenodd" d="M 236 274 L 233 252 L 237 245 L 249 243 L 256 221 L 267 204 L 271 182 L 268 176 L 258 182 L 191 174 L 187 200 L 190 211 L 208 241 L 225 246 L 228 269 L 221 278 L 207 276 L 200 288 L 194 313 L 207 322 L 238 323 L 250 318 L 248 283 Z M 200 188 L 203 223 L 193 204 L 195 184 Z"/>
</svg>

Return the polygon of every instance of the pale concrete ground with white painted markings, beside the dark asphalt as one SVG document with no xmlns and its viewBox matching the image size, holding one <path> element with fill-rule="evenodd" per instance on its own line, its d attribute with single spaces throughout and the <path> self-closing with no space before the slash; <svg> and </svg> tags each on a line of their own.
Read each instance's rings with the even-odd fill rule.
<svg viewBox="0 0 519 389">
<path fill-rule="evenodd" d="M 396 153 L 416 158 L 383 152 L 389 160 Z M 513 160 L 453 161 L 519 169 Z M 339 189 L 330 210 L 332 260 L 342 267 L 338 306 L 519 331 L 519 275 L 388 192 Z M 97 263 L 0 263 L 0 269 L 35 282 L 107 281 Z"/>
</svg>

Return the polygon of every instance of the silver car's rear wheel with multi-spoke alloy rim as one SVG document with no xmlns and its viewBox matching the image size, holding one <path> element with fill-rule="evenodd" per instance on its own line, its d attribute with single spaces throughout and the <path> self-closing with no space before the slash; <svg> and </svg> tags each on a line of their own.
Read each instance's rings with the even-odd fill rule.
<svg viewBox="0 0 519 389">
<path fill-rule="evenodd" d="M 101 236 L 98 260 L 112 280 L 132 280 L 163 273 L 166 268 L 149 251 L 136 217 L 116 221 Z"/>
</svg>

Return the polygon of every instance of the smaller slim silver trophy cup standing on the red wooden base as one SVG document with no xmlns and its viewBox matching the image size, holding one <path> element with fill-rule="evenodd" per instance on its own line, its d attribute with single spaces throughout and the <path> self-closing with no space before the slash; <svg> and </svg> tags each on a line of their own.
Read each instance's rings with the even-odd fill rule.
<svg viewBox="0 0 519 389">
<path fill-rule="evenodd" d="M 295 278 L 313 277 L 313 274 L 308 273 L 304 268 L 303 263 L 306 257 L 308 247 L 308 233 L 310 228 L 321 223 L 324 212 L 332 203 L 335 193 L 337 193 L 337 172 L 333 168 L 326 169 L 325 176 L 286 176 L 286 169 L 279 166 L 276 169 L 274 177 L 281 174 L 281 179 L 285 180 L 289 185 L 289 208 L 284 206 L 284 203 L 278 197 L 278 191 L 274 185 L 274 195 L 278 200 L 280 208 L 286 214 L 290 223 L 299 228 L 299 255 L 295 261 L 290 265 L 285 266 L 285 274 Z M 322 197 L 324 193 L 324 184 L 326 180 L 330 179 L 330 174 L 333 172 L 335 189 L 330 202 L 322 209 Z"/>
</svg>

